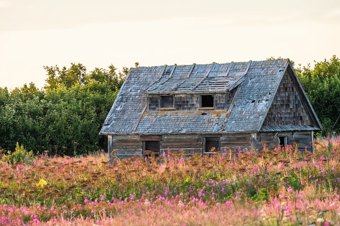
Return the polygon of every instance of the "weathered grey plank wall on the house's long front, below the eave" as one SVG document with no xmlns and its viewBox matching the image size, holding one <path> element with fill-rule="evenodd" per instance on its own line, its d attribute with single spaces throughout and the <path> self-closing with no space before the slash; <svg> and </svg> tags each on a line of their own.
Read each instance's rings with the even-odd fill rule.
<svg viewBox="0 0 340 226">
<path fill-rule="evenodd" d="M 229 152 L 229 147 L 236 153 L 238 148 L 241 151 L 252 149 L 250 133 L 112 136 L 113 159 L 115 157 L 119 159 L 131 158 L 134 154 L 141 158 L 142 141 L 159 141 L 161 155 L 163 152 L 168 155 L 169 152 L 184 151 L 188 158 L 193 152 L 203 153 L 204 137 L 220 137 L 220 151 L 226 149 Z"/>
</svg>

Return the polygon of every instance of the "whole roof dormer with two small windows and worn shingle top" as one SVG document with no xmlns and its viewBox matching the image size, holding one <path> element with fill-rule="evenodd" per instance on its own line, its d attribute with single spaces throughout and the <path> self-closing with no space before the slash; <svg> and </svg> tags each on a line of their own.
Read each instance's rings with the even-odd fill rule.
<svg viewBox="0 0 340 226">
<path fill-rule="evenodd" d="M 146 111 L 226 111 L 251 64 L 165 65 L 143 93 Z"/>
</svg>

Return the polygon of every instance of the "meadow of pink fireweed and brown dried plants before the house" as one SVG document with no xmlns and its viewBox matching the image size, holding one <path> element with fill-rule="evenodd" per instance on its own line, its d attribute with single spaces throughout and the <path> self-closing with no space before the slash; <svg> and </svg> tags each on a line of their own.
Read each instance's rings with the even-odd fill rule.
<svg viewBox="0 0 340 226">
<path fill-rule="evenodd" d="M 33 155 L 17 144 L 0 161 L 0 224 L 339 225 L 339 142 L 112 165 L 101 152 Z"/>
</svg>

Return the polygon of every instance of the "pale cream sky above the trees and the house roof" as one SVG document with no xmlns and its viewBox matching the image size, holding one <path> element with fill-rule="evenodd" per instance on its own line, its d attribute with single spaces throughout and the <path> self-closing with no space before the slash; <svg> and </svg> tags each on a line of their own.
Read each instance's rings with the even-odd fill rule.
<svg viewBox="0 0 340 226">
<path fill-rule="evenodd" d="M 340 57 L 340 1 L 0 0 L 0 86 L 45 84 L 43 66 L 87 71 Z"/>
</svg>

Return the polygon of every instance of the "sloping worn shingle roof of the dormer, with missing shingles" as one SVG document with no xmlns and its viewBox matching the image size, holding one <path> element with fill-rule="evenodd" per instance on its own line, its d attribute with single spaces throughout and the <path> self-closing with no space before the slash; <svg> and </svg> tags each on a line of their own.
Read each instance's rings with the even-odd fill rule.
<svg viewBox="0 0 340 226">
<path fill-rule="evenodd" d="M 165 65 L 162 77 L 143 90 L 146 94 L 225 93 L 245 79 L 249 62 Z"/>
</svg>

